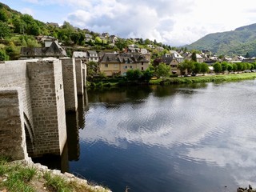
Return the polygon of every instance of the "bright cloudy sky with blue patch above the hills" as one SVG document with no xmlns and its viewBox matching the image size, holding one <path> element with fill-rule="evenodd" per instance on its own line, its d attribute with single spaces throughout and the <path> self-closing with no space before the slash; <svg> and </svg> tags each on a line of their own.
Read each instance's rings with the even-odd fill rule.
<svg viewBox="0 0 256 192">
<path fill-rule="evenodd" d="M 42 22 L 184 46 L 256 22 L 254 0 L 1 0 Z"/>
</svg>

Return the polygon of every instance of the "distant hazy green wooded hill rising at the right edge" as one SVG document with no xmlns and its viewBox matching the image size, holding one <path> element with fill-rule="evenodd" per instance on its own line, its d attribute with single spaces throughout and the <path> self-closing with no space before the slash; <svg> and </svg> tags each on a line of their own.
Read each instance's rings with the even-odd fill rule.
<svg viewBox="0 0 256 192">
<path fill-rule="evenodd" d="M 246 55 L 256 56 L 256 24 L 242 26 L 232 31 L 207 34 L 187 46 L 192 50 L 211 50 L 221 55 Z"/>
</svg>

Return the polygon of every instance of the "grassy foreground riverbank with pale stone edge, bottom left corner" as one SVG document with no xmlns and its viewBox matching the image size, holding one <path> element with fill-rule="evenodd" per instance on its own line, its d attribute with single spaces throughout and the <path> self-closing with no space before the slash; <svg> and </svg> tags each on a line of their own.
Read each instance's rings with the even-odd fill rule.
<svg viewBox="0 0 256 192">
<path fill-rule="evenodd" d="M 0 159 L 1 192 L 111 192 L 102 186 L 92 186 L 86 179 L 74 174 L 62 174 L 60 170 L 49 170 L 30 159 L 7 162 Z"/>
</svg>

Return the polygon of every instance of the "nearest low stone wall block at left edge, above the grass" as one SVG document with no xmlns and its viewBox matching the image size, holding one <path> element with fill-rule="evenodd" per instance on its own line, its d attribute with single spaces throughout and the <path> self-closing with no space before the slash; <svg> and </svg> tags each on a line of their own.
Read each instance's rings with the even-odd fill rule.
<svg viewBox="0 0 256 192">
<path fill-rule="evenodd" d="M 28 158 L 20 88 L 0 89 L 0 127 L 0 154 L 12 159 Z"/>
</svg>

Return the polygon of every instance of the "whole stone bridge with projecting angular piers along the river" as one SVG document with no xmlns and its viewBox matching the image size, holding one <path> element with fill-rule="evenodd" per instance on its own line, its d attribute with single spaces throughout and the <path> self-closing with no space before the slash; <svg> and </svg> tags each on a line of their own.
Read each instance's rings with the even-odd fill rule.
<svg viewBox="0 0 256 192">
<path fill-rule="evenodd" d="M 74 58 L 0 63 L 0 155 L 62 154 L 66 111 L 78 109 L 85 85 L 86 65 Z"/>
</svg>

